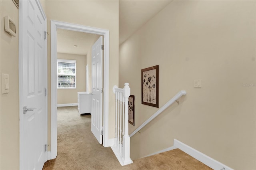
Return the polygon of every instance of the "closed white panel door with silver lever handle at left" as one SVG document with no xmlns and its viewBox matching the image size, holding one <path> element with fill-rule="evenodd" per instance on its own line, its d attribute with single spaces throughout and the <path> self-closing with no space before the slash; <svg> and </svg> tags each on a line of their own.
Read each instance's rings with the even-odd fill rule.
<svg viewBox="0 0 256 170">
<path fill-rule="evenodd" d="M 20 1 L 20 169 L 42 169 L 47 160 L 47 40 L 41 12 L 39 1 Z"/>
</svg>

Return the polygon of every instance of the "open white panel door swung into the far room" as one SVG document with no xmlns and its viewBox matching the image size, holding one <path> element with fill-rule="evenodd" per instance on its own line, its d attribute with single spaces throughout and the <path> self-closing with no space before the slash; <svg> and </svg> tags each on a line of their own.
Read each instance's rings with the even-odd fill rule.
<svg viewBox="0 0 256 170">
<path fill-rule="evenodd" d="M 92 46 L 92 133 L 102 144 L 102 36 Z"/>
</svg>

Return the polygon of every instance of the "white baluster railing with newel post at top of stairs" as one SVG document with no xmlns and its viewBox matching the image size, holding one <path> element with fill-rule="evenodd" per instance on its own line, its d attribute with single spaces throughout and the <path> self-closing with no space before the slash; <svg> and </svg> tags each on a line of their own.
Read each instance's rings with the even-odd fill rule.
<svg viewBox="0 0 256 170">
<path fill-rule="evenodd" d="M 116 158 L 122 166 L 131 164 L 130 136 L 128 134 L 128 102 L 130 96 L 129 83 L 124 88 L 113 87 L 116 96 L 115 144 L 111 146 Z"/>
</svg>

